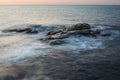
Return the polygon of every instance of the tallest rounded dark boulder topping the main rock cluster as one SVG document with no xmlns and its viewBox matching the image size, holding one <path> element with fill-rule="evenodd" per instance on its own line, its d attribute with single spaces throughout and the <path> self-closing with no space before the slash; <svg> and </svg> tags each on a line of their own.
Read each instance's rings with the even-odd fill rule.
<svg viewBox="0 0 120 80">
<path fill-rule="evenodd" d="M 67 28 L 67 31 L 72 31 L 72 30 L 84 30 L 84 29 L 90 29 L 90 25 L 87 23 L 79 23 L 76 25 L 71 26 L 70 28 Z"/>
</svg>

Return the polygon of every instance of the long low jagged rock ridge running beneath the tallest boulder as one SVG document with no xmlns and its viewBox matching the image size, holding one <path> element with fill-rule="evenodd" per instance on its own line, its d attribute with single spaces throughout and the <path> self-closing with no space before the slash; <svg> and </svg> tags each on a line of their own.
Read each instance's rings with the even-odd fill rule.
<svg viewBox="0 0 120 80">
<path fill-rule="evenodd" d="M 98 31 L 92 31 L 89 29 L 66 31 L 66 32 L 60 31 L 60 32 L 56 32 L 55 34 L 52 34 L 52 32 L 50 32 L 49 35 L 47 34 L 47 36 L 45 36 L 45 38 L 41 38 L 40 40 L 48 41 L 48 40 L 54 40 L 54 39 L 64 39 L 64 38 L 68 38 L 70 36 L 75 36 L 75 35 L 96 36 L 97 33 L 98 33 Z"/>
</svg>

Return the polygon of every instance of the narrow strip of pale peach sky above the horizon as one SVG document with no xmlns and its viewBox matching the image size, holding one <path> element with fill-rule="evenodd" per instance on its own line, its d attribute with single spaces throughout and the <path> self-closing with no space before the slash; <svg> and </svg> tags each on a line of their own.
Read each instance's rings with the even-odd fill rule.
<svg viewBox="0 0 120 80">
<path fill-rule="evenodd" d="M 0 0 L 0 5 L 7 4 L 83 4 L 83 5 L 120 5 L 120 0 Z"/>
</svg>

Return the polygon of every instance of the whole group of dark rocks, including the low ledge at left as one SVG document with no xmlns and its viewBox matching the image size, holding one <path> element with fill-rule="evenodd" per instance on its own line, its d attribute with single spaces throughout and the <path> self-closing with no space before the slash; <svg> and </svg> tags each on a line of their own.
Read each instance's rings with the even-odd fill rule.
<svg viewBox="0 0 120 80">
<path fill-rule="evenodd" d="M 41 27 L 41 26 L 34 25 L 34 27 Z M 49 31 L 49 30 L 47 30 L 47 31 Z M 28 28 L 24 28 L 24 29 L 9 29 L 9 30 L 4 30 L 3 32 L 37 34 L 40 31 L 38 29 L 28 27 Z M 78 23 L 78 24 L 72 25 L 70 27 L 64 27 L 62 29 L 57 29 L 57 30 L 53 29 L 53 31 L 47 32 L 45 37 L 41 38 L 40 40 L 45 43 L 48 43 L 49 45 L 60 45 L 60 44 L 67 43 L 64 40 L 65 38 L 68 38 L 70 36 L 76 36 L 76 35 L 83 35 L 83 36 L 88 36 L 88 37 L 111 36 L 111 34 L 101 34 L 101 30 L 92 30 L 91 26 L 87 23 Z"/>
</svg>

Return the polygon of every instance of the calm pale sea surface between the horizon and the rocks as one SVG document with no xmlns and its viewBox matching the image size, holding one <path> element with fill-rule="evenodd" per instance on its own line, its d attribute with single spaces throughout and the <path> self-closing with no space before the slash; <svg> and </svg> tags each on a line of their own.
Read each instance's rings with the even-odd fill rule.
<svg viewBox="0 0 120 80">
<path fill-rule="evenodd" d="M 0 6 L 0 28 L 16 24 L 120 25 L 120 6 Z"/>
</svg>

